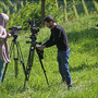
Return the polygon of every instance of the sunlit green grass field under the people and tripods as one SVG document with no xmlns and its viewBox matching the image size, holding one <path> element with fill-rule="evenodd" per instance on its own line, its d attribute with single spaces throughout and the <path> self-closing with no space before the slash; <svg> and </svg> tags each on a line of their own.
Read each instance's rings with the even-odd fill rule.
<svg viewBox="0 0 98 98">
<path fill-rule="evenodd" d="M 4 82 L 0 84 L 0 98 L 97 98 L 98 97 L 98 29 L 93 28 L 97 24 L 97 16 L 85 16 L 79 20 L 62 25 L 66 33 L 71 49 L 70 71 L 73 89 L 68 90 L 62 83 L 57 62 L 56 46 L 44 51 L 44 66 L 49 81 L 49 86 L 40 66 L 38 56 L 35 53 L 29 82 L 25 89 L 23 68 L 19 65 L 17 78 L 14 76 L 14 62 L 9 64 Z M 25 65 L 29 51 L 29 44 L 26 44 L 25 36 L 30 32 L 22 32 L 19 41 L 22 48 Z M 50 30 L 41 28 L 37 41 L 46 41 Z M 12 38 L 8 41 L 11 44 Z"/>
</svg>

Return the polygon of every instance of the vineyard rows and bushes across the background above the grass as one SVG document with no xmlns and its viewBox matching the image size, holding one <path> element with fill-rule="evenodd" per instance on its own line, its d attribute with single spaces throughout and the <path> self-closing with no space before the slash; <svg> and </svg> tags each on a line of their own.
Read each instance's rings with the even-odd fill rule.
<svg viewBox="0 0 98 98">
<path fill-rule="evenodd" d="M 22 25 L 28 27 L 28 20 L 36 20 L 41 26 L 41 0 L 1 0 L 0 13 L 4 12 L 10 16 L 9 26 Z M 97 0 L 46 0 L 46 15 L 51 14 L 58 23 L 70 22 L 81 16 L 98 14 Z"/>
</svg>

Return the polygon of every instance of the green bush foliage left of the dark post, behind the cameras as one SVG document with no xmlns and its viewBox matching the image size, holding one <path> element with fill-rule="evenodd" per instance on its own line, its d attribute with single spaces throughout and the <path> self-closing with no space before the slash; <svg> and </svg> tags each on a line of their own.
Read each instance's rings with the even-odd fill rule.
<svg viewBox="0 0 98 98">
<path fill-rule="evenodd" d="M 17 13 L 12 14 L 9 25 L 21 25 L 27 28 L 28 21 L 34 19 L 40 23 L 40 3 L 37 5 L 37 3 L 27 2 Z"/>
</svg>

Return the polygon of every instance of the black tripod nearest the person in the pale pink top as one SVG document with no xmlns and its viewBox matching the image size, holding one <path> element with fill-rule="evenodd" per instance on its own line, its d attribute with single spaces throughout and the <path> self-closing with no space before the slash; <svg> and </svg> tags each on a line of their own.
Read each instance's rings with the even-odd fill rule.
<svg viewBox="0 0 98 98">
<path fill-rule="evenodd" d="M 15 49 L 16 49 L 16 51 L 15 51 Z M 24 60 L 23 60 L 23 54 L 22 54 L 22 50 L 21 50 L 21 47 L 20 47 L 20 42 L 17 40 L 17 35 L 13 36 L 13 39 L 12 39 L 12 42 L 11 42 L 11 46 L 10 46 L 10 58 L 11 58 L 12 53 L 13 53 L 13 59 L 14 59 L 15 77 L 17 77 L 19 60 L 20 60 L 21 64 L 23 65 L 23 70 L 24 70 L 24 73 L 25 73 Z M 3 82 L 3 79 L 4 79 L 4 75 L 5 75 L 7 69 L 8 69 L 8 63 L 5 64 L 1 82 Z M 25 73 L 25 76 L 26 76 L 26 73 Z"/>
</svg>

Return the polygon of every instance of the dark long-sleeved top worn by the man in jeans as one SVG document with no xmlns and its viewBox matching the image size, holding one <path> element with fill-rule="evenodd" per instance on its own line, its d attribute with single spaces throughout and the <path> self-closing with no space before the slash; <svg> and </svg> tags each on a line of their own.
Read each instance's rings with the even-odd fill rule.
<svg viewBox="0 0 98 98">
<path fill-rule="evenodd" d="M 46 47 L 57 45 L 58 50 L 68 50 L 69 41 L 64 28 L 60 25 L 56 25 L 54 28 L 51 28 L 50 39 L 44 45 L 46 45 Z"/>
</svg>

